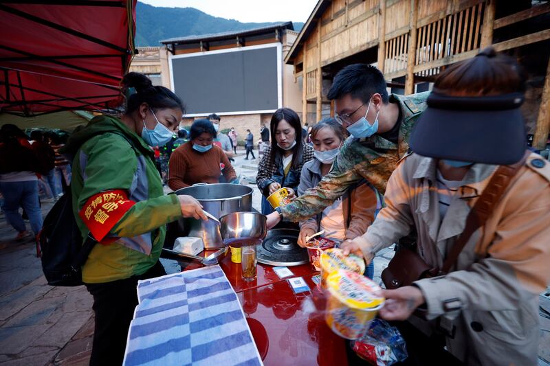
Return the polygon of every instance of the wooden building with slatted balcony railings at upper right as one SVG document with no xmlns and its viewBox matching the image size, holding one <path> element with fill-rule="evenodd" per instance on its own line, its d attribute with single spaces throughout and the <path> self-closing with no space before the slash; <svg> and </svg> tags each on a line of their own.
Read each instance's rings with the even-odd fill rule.
<svg viewBox="0 0 550 366">
<path fill-rule="evenodd" d="M 547 1 L 319 0 L 285 62 L 294 66 L 303 88 L 303 119 L 311 123 L 333 114 L 326 94 L 346 65 L 376 65 L 394 92 L 409 94 L 426 90 L 423 83 L 447 65 L 488 45 L 527 69 L 522 111 L 535 134 L 533 145 L 544 148 L 550 128 Z"/>
</svg>

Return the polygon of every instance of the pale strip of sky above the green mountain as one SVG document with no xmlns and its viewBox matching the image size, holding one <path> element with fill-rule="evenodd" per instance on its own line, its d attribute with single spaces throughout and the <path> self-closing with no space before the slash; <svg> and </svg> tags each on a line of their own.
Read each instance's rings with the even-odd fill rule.
<svg viewBox="0 0 550 366">
<path fill-rule="evenodd" d="M 139 0 L 167 8 L 196 8 L 244 23 L 307 21 L 317 0 Z"/>
</svg>

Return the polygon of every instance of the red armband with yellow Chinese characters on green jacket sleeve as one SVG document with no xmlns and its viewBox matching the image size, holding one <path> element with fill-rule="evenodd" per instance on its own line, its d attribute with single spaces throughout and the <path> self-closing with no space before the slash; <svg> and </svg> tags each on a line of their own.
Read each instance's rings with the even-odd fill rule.
<svg viewBox="0 0 550 366">
<path fill-rule="evenodd" d="M 114 240 L 103 239 L 133 205 L 124 190 L 108 190 L 88 198 L 78 215 L 98 242 L 110 244 Z"/>
</svg>

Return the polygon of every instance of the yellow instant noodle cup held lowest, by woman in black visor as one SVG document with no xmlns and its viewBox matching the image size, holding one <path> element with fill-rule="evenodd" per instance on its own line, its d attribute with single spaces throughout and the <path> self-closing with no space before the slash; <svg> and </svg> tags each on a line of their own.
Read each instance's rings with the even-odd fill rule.
<svg viewBox="0 0 550 366">
<path fill-rule="evenodd" d="M 360 339 L 384 306 L 384 297 L 375 295 L 382 289 L 364 275 L 347 270 L 329 275 L 327 286 L 327 325 L 342 338 Z"/>
</svg>

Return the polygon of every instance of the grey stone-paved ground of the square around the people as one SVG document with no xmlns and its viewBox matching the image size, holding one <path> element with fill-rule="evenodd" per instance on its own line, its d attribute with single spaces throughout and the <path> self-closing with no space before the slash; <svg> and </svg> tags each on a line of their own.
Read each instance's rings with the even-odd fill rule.
<svg viewBox="0 0 550 366">
<path fill-rule="evenodd" d="M 257 162 L 239 155 L 234 165 L 243 178 L 241 183 L 248 182 L 254 188 L 252 205 L 260 209 L 261 194 L 255 185 Z M 43 203 L 44 215 L 52 205 Z M 0 212 L 0 364 L 87 365 L 94 334 L 91 296 L 83 286 L 48 286 L 34 242 L 14 242 L 15 235 Z M 375 258 L 377 282 L 393 253 L 391 247 Z M 550 314 L 550 289 L 547 297 L 541 296 L 541 305 Z M 549 366 L 550 319 L 540 317 L 540 321 L 539 365 Z"/>
</svg>

